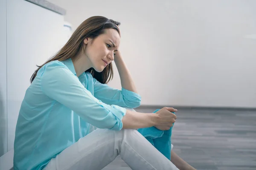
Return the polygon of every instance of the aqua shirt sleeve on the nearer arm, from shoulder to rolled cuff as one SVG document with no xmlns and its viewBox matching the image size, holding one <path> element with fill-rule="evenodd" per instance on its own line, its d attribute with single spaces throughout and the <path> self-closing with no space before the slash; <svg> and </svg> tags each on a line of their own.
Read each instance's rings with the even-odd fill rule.
<svg viewBox="0 0 256 170">
<path fill-rule="evenodd" d="M 96 99 L 61 62 L 45 65 L 38 76 L 41 77 L 44 94 L 70 108 L 84 121 L 98 128 L 122 129 L 122 117 L 126 109 Z"/>
</svg>

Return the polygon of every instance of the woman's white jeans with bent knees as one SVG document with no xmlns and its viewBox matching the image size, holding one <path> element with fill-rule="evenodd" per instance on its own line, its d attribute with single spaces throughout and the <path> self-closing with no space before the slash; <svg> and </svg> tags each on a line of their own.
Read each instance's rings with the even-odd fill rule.
<svg viewBox="0 0 256 170">
<path fill-rule="evenodd" d="M 63 150 L 44 170 L 101 170 L 118 155 L 133 170 L 178 170 L 133 129 L 96 129 Z"/>
</svg>

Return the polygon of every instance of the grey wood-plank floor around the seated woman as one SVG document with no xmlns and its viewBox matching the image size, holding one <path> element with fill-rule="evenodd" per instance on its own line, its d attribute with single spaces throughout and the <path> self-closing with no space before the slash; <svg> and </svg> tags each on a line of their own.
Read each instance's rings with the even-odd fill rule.
<svg viewBox="0 0 256 170">
<path fill-rule="evenodd" d="M 256 111 L 179 109 L 172 144 L 197 170 L 256 170 Z M 118 156 L 103 170 L 131 168 Z"/>
</svg>

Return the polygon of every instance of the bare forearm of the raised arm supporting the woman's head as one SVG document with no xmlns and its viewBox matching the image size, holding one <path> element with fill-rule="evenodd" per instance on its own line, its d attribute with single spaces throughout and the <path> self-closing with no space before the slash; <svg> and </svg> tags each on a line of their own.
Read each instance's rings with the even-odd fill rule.
<svg viewBox="0 0 256 170">
<path fill-rule="evenodd" d="M 137 93 L 137 89 L 135 87 L 133 79 L 131 78 L 130 71 L 128 70 L 125 64 L 120 51 L 116 52 L 114 56 L 114 62 L 116 64 L 116 68 L 120 76 L 122 88 L 125 88 L 129 91 L 133 91 L 134 93 Z"/>
</svg>

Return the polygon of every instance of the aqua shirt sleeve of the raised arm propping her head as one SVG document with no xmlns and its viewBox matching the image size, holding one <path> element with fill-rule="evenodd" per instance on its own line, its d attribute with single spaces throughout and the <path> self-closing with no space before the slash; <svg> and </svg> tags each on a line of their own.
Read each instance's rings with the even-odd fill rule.
<svg viewBox="0 0 256 170">
<path fill-rule="evenodd" d="M 137 108 L 141 103 L 141 96 L 125 88 L 118 90 L 107 84 L 102 84 L 93 78 L 94 96 L 109 105 L 120 107 Z"/>
</svg>

